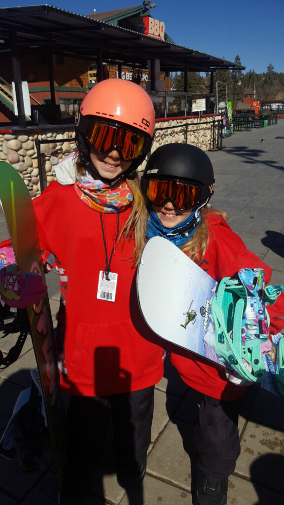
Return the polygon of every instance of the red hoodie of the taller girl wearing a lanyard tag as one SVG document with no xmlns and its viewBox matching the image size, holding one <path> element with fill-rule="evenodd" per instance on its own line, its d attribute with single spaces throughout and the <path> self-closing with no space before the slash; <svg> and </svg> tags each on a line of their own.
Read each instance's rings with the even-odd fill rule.
<svg viewBox="0 0 284 505">
<path fill-rule="evenodd" d="M 136 270 L 129 256 L 130 232 L 115 247 L 111 271 L 118 274 L 114 302 L 97 298 L 99 272 L 106 268 L 100 213 L 84 205 L 74 186 L 52 182 L 33 200 L 44 257 L 56 257 L 61 304 L 57 332 L 61 385 L 71 394 L 101 396 L 143 389 L 163 376 L 163 349 L 138 308 Z M 119 213 L 119 231 L 131 209 Z M 102 214 L 108 259 L 118 214 Z M 49 252 L 46 252 L 49 251 Z"/>
</svg>

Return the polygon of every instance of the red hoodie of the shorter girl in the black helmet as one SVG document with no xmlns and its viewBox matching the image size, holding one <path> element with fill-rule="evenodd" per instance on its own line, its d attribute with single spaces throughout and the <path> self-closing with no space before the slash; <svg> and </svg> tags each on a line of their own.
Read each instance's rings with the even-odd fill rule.
<svg viewBox="0 0 284 505">
<path fill-rule="evenodd" d="M 243 240 L 218 214 L 209 213 L 206 220 L 210 239 L 204 260 L 199 266 L 218 282 L 223 277 L 234 275 L 240 268 L 263 268 L 265 283 L 268 284 L 271 268 L 246 248 Z M 283 319 L 279 315 L 284 315 L 284 295 L 281 294 L 275 304 L 267 309 L 270 316 L 269 330 L 276 334 L 283 328 Z M 177 350 L 176 346 L 171 346 L 170 350 L 174 350 L 170 353 L 171 362 L 188 386 L 223 400 L 235 400 L 243 396 L 245 388 L 228 382 L 225 369 L 214 367 L 206 359 L 197 359 L 189 351 L 181 348 Z"/>
</svg>

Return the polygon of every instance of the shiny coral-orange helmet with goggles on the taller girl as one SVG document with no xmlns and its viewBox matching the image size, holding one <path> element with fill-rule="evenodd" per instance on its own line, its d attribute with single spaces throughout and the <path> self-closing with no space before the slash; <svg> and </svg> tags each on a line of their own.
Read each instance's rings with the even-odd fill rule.
<svg viewBox="0 0 284 505">
<path fill-rule="evenodd" d="M 79 156 L 87 170 L 98 176 L 90 162 L 90 147 L 99 154 L 116 149 L 123 160 L 132 161 L 122 174 L 125 177 L 136 170 L 151 149 L 155 110 L 148 93 L 137 84 L 107 79 L 85 96 L 75 124 Z"/>
</svg>

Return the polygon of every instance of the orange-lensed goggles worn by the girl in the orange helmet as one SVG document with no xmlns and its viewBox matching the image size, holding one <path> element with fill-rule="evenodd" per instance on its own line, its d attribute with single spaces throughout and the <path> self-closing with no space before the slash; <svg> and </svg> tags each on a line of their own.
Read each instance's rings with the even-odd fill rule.
<svg viewBox="0 0 284 505">
<path fill-rule="evenodd" d="M 152 144 L 152 138 L 139 130 L 96 120 L 88 121 L 85 136 L 99 154 L 107 154 L 115 149 L 124 161 L 147 154 Z"/>
</svg>

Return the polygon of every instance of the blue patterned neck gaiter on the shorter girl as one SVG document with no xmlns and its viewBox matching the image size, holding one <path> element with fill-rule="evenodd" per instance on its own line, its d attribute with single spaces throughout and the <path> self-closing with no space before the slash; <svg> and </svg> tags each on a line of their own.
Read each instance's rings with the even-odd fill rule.
<svg viewBox="0 0 284 505">
<path fill-rule="evenodd" d="M 195 230 L 201 223 L 201 216 L 199 212 L 196 216 L 198 207 L 195 207 L 187 219 L 179 223 L 174 228 L 165 228 L 156 212 L 153 211 L 152 205 L 149 204 L 149 218 L 147 221 L 147 238 L 151 237 L 164 237 L 170 240 L 177 247 L 185 244 L 190 237 L 194 234 Z"/>
</svg>

